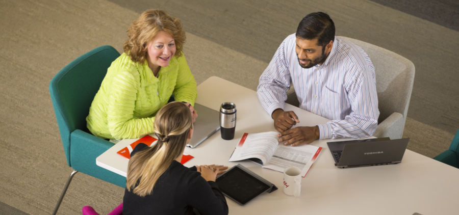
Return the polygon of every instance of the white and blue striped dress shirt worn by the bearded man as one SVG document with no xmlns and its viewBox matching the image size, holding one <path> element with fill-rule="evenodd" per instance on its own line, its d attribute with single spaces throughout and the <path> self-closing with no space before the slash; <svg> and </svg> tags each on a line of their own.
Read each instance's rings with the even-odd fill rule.
<svg viewBox="0 0 459 215">
<path fill-rule="evenodd" d="M 296 36 L 292 34 L 260 76 L 257 94 L 268 114 L 284 109 L 293 84 L 301 109 L 331 120 L 318 125 L 320 139 L 373 135 L 379 116 L 378 98 L 374 67 L 365 51 L 335 37 L 325 62 L 304 69 L 298 63 L 295 46 Z"/>
</svg>

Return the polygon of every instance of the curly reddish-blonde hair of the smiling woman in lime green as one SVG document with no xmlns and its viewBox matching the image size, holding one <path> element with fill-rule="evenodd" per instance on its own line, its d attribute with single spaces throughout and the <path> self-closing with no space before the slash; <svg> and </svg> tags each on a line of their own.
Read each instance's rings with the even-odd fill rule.
<svg viewBox="0 0 459 215">
<path fill-rule="evenodd" d="M 134 20 L 127 30 L 127 39 L 124 42 L 123 50 L 131 60 L 136 63 L 143 63 L 146 59 L 147 43 L 164 31 L 174 38 L 176 52 L 174 56 L 181 57 L 183 44 L 185 43 L 185 31 L 179 18 L 172 18 L 162 10 L 147 10 L 140 17 Z"/>
</svg>

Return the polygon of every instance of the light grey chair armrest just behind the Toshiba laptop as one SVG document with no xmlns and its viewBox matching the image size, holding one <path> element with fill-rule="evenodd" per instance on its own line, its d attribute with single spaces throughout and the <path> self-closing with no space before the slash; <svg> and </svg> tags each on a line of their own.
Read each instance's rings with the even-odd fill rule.
<svg viewBox="0 0 459 215">
<path fill-rule="evenodd" d="M 403 135 L 404 124 L 402 114 L 392 113 L 388 118 L 378 124 L 373 136 L 377 138 L 389 137 L 391 140 L 400 139 Z"/>
</svg>

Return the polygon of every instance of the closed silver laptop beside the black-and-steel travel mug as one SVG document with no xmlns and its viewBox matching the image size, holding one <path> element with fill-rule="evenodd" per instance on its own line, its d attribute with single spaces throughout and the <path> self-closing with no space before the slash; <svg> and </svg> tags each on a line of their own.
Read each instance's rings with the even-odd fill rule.
<svg viewBox="0 0 459 215">
<path fill-rule="evenodd" d="M 191 138 L 190 143 L 187 144 L 190 148 L 194 148 L 201 144 L 220 129 L 220 114 L 218 111 L 198 103 L 194 104 L 194 110 L 196 110 L 198 117 L 194 122 L 193 138 Z"/>
</svg>

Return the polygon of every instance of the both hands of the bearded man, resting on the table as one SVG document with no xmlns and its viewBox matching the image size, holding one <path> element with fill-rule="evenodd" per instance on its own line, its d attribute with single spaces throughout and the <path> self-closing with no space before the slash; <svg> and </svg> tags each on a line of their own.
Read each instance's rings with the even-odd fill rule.
<svg viewBox="0 0 459 215">
<path fill-rule="evenodd" d="M 318 126 L 292 128 L 296 123 L 299 123 L 298 117 L 293 111 L 277 109 L 271 117 L 274 120 L 274 128 L 281 132 L 277 135 L 279 143 L 285 141 L 284 145 L 286 146 L 299 146 L 310 144 L 320 138 Z"/>
</svg>

